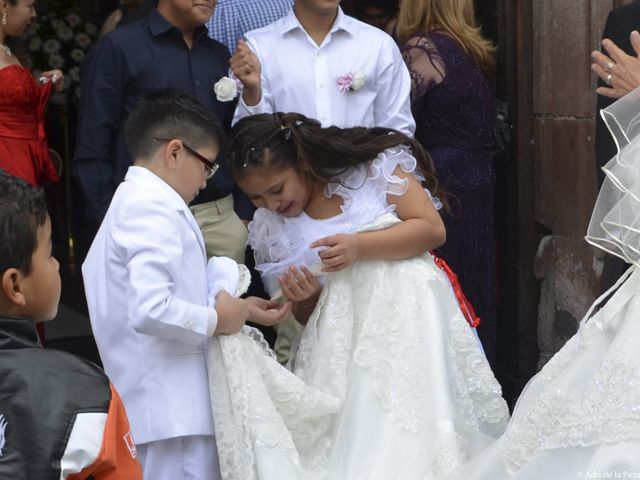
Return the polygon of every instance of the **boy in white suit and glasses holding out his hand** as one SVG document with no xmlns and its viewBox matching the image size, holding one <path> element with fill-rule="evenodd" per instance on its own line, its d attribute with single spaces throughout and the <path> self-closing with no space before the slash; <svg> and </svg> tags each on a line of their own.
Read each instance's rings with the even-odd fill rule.
<svg viewBox="0 0 640 480">
<path fill-rule="evenodd" d="M 105 371 L 127 409 L 144 477 L 219 478 L 208 392 L 209 337 L 288 305 L 221 292 L 207 307 L 207 259 L 188 203 L 218 168 L 223 133 L 191 96 L 147 97 L 125 126 L 135 159 L 82 266 Z"/>
</svg>

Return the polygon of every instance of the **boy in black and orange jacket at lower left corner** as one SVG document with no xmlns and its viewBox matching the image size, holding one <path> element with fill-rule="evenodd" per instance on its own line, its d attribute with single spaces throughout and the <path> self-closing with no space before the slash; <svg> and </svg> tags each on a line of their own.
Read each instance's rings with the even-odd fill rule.
<svg viewBox="0 0 640 480">
<path fill-rule="evenodd" d="M 0 170 L 0 478 L 141 480 L 107 376 L 38 342 L 60 300 L 51 247 L 44 193 Z"/>
</svg>

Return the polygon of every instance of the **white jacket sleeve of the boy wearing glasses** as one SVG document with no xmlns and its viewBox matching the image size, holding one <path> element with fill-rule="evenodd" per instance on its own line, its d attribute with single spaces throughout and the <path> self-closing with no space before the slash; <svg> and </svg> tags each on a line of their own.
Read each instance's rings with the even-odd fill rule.
<svg viewBox="0 0 640 480">
<path fill-rule="evenodd" d="M 127 267 L 127 320 L 138 333 L 197 345 L 215 330 L 217 315 L 204 302 L 175 295 L 176 285 L 190 275 L 184 252 L 198 245 L 190 238 L 193 230 L 185 229 L 183 213 L 168 215 L 166 208 L 132 205 L 113 230 Z"/>
</svg>

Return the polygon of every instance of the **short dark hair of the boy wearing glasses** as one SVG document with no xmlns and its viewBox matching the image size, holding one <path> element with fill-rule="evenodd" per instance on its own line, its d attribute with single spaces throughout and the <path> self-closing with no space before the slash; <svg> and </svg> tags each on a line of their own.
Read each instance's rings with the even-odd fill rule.
<svg viewBox="0 0 640 480">
<path fill-rule="evenodd" d="M 156 138 L 180 139 L 193 148 L 217 144 L 223 148 L 224 132 L 215 115 L 191 95 L 174 88 L 145 95 L 124 126 L 129 154 L 149 158 Z"/>
</svg>

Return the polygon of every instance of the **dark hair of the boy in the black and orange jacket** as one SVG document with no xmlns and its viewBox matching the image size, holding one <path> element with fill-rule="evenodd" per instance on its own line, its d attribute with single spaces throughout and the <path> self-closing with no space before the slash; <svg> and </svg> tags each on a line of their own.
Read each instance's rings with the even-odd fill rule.
<svg viewBox="0 0 640 480">
<path fill-rule="evenodd" d="M 38 227 L 47 219 L 44 192 L 0 169 L 0 275 L 9 268 L 31 273 Z"/>
</svg>

